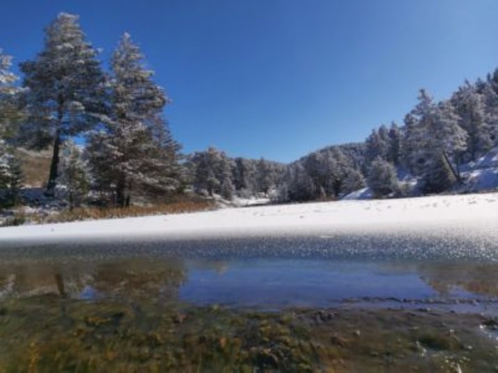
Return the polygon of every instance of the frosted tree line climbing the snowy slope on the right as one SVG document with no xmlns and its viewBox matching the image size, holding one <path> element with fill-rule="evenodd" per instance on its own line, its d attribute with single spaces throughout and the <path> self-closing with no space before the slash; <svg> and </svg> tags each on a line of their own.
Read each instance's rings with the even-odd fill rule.
<svg viewBox="0 0 498 373">
<path fill-rule="evenodd" d="M 279 198 L 339 198 L 366 186 L 376 197 L 451 191 L 465 183 L 462 164 L 496 147 L 497 135 L 498 69 L 465 81 L 448 100 L 436 102 L 421 89 L 402 126 L 381 125 L 363 143 L 332 146 L 289 164 Z"/>
</svg>

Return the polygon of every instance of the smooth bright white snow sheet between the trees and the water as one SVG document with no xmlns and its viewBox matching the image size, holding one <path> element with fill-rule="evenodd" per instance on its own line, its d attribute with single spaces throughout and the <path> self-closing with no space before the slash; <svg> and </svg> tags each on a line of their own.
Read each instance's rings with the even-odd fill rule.
<svg viewBox="0 0 498 373">
<path fill-rule="evenodd" d="M 8 241 L 158 237 L 192 239 L 348 233 L 452 232 L 498 242 L 498 193 L 397 200 L 342 200 L 226 208 L 192 214 L 0 228 Z"/>
</svg>

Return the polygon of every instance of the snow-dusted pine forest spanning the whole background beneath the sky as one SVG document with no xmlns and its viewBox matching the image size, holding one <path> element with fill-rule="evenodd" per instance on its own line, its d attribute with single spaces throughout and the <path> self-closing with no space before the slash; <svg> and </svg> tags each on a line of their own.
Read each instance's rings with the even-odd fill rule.
<svg viewBox="0 0 498 373">
<path fill-rule="evenodd" d="M 68 13 L 47 26 L 38 54 L 20 63 L 22 77 L 13 74 L 7 53 L 0 49 L 4 209 L 31 203 L 19 149 L 49 150 L 43 198 L 72 210 L 186 195 L 226 201 L 260 196 L 273 203 L 337 200 L 365 187 L 373 198 L 456 193 L 467 182 L 462 166 L 498 145 L 498 70 L 464 81 L 439 102 L 421 89 L 403 123 L 380 125 L 364 142 L 281 164 L 229 157 L 213 147 L 183 154 L 165 117 L 170 99 L 128 33 L 120 37 L 109 70 L 86 40 L 79 17 Z"/>
</svg>

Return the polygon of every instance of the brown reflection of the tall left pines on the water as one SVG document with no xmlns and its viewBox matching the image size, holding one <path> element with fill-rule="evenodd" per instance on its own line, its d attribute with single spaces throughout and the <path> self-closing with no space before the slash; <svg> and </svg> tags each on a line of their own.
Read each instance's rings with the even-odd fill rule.
<svg viewBox="0 0 498 373">
<path fill-rule="evenodd" d="M 178 298 L 186 276 L 183 263 L 177 260 L 29 260 L 0 265 L 0 296 L 58 294 L 86 300 L 170 301 Z"/>
</svg>

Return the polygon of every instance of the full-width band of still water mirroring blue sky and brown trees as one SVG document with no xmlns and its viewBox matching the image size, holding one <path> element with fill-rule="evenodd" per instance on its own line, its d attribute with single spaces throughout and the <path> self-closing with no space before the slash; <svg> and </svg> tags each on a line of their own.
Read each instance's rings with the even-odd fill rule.
<svg viewBox="0 0 498 373">
<path fill-rule="evenodd" d="M 328 306 L 351 299 L 498 297 L 498 264 L 355 260 L 115 257 L 0 264 L 0 297 Z"/>
</svg>

